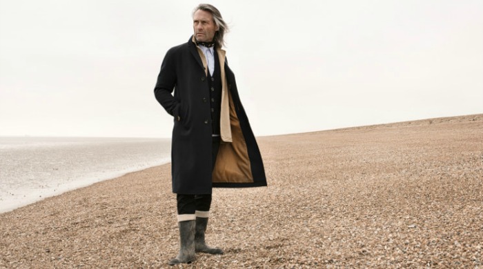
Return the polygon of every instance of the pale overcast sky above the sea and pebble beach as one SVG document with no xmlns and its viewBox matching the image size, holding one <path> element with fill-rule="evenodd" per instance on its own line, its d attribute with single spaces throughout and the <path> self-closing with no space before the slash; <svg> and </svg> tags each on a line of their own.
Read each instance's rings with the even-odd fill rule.
<svg viewBox="0 0 483 269">
<path fill-rule="evenodd" d="M 0 0 L 0 136 L 170 137 L 199 1 Z M 483 113 L 483 1 L 210 1 L 255 135 Z"/>
</svg>

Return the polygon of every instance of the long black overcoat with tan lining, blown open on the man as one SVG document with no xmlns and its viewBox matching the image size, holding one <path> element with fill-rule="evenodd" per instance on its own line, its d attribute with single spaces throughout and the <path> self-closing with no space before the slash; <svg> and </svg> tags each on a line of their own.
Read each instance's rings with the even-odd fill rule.
<svg viewBox="0 0 483 269">
<path fill-rule="evenodd" d="M 212 127 L 206 59 L 193 37 L 166 52 L 155 97 L 173 116 L 172 192 L 210 194 L 213 187 L 266 186 L 262 157 L 240 102 L 235 74 L 217 49 L 222 79 L 221 143 L 212 170 Z M 174 91 L 174 94 L 173 94 Z"/>
</svg>

